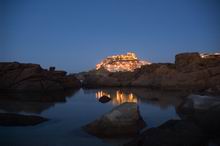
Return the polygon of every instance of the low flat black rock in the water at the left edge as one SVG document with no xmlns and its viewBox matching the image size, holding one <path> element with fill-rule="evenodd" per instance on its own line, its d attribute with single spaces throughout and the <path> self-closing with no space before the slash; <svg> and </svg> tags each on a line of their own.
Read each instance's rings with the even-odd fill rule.
<svg viewBox="0 0 220 146">
<path fill-rule="evenodd" d="M 34 126 L 47 120 L 46 118 L 33 115 L 0 113 L 0 126 Z"/>
</svg>

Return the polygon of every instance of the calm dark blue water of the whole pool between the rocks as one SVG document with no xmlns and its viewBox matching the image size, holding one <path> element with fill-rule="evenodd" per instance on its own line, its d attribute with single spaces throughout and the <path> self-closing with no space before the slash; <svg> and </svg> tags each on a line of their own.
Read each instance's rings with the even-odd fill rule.
<svg viewBox="0 0 220 146">
<path fill-rule="evenodd" d="M 99 102 L 100 95 L 112 98 Z M 2 146 L 114 146 L 128 139 L 100 139 L 81 127 L 123 102 L 137 102 L 147 128 L 169 119 L 179 119 L 175 108 L 185 93 L 151 91 L 147 89 L 80 89 L 68 93 L 10 94 L 0 96 L 0 112 L 40 115 L 48 122 L 27 127 L 0 126 Z"/>
</svg>

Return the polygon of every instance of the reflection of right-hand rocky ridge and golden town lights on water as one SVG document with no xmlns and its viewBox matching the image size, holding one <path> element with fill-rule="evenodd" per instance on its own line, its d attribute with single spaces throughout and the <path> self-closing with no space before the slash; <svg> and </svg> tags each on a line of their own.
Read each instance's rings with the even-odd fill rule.
<svg viewBox="0 0 220 146">
<path fill-rule="evenodd" d="M 179 106 L 189 95 L 188 92 L 151 90 L 146 88 L 102 88 L 83 90 L 85 94 L 95 94 L 100 100 L 101 97 L 111 98 L 112 104 L 119 105 L 124 102 L 138 102 L 159 106 L 167 109 L 172 106 Z"/>
</svg>

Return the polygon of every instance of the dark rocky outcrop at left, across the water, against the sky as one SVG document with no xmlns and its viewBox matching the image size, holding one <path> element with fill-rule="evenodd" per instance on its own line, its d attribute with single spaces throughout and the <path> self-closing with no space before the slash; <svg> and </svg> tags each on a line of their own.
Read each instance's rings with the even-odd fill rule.
<svg viewBox="0 0 220 146">
<path fill-rule="evenodd" d="M 52 91 L 79 88 L 80 81 L 65 71 L 41 68 L 38 64 L 0 63 L 0 90 Z"/>
</svg>

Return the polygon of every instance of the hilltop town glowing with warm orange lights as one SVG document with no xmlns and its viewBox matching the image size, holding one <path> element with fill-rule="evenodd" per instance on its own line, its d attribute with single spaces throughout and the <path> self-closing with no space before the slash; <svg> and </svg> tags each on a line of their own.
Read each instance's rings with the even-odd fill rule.
<svg viewBox="0 0 220 146">
<path fill-rule="evenodd" d="M 101 63 L 96 65 L 96 70 L 104 68 L 110 72 L 125 72 L 134 71 L 142 65 L 150 64 L 148 61 L 140 61 L 135 53 L 128 52 L 127 54 L 109 56 Z"/>
</svg>

